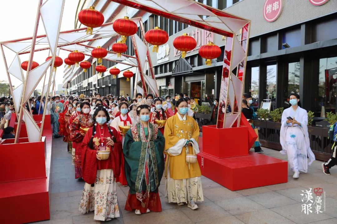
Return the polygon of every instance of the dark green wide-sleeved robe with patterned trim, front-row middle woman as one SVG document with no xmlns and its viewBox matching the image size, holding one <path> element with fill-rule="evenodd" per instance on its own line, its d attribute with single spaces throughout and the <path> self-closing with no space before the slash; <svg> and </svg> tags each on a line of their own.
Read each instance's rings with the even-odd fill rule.
<svg viewBox="0 0 337 224">
<path fill-rule="evenodd" d="M 148 128 L 141 131 L 141 124 L 131 125 L 125 134 L 123 154 L 124 168 L 130 194 L 158 192 L 160 180 L 164 172 L 164 137 L 158 126 L 148 123 Z M 151 133 L 148 139 L 148 133 Z M 149 141 L 146 142 L 146 139 Z M 146 184 L 145 164 L 148 164 L 149 182 Z M 143 193 L 142 193 L 143 192 Z"/>
</svg>

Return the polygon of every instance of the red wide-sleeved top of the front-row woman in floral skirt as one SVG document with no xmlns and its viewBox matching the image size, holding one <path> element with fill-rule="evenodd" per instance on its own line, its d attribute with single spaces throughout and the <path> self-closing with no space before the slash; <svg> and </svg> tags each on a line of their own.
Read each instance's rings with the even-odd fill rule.
<svg viewBox="0 0 337 224">
<path fill-rule="evenodd" d="M 121 167 L 121 154 L 122 154 L 122 142 L 118 137 L 118 132 L 115 128 L 110 127 L 111 133 L 108 130 L 108 126 L 104 125 L 96 125 L 93 137 L 93 146 L 94 149 L 89 148 L 88 144 L 92 137 L 93 127 L 91 127 L 82 141 L 82 177 L 83 180 L 88 184 L 93 184 L 96 180 L 97 170 L 105 170 L 112 169 L 114 171 L 114 176 L 119 176 L 120 167 Z M 107 139 L 110 137 L 111 139 L 115 138 L 114 146 L 105 146 L 105 149 L 109 148 L 110 156 L 107 160 L 97 160 L 96 152 L 99 150 L 99 145 L 103 143 L 105 145 Z"/>
</svg>

